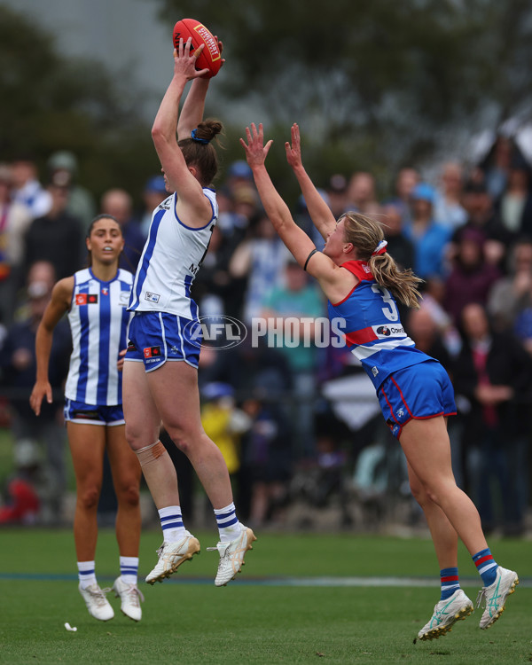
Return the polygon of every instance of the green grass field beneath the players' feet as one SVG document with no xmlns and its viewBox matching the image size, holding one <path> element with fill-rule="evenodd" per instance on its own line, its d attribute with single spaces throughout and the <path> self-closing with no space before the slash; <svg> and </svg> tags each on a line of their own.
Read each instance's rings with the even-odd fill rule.
<svg viewBox="0 0 532 665">
<path fill-rule="evenodd" d="M 503 617 L 478 628 L 480 610 L 450 635 L 412 643 L 439 599 L 438 569 L 428 539 L 358 535 L 261 535 L 239 580 L 217 589 L 215 534 L 196 534 L 203 552 L 172 580 L 145 583 L 142 622 L 120 612 L 92 619 L 77 592 L 70 531 L 0 531 L 0 662 L 6 663 L 524 663 L 532 661 L 531 545 L 496 540 L 497 559 L 520 573 Z M 158 531 L 143 534 L 141 573 L 149 572 Z M 479 581 L 465 550 L 463 587 Z M 113 533 L 100 533 L 101 586 L 117 575 Z M 332 578 L 332 579 L 324 579 Z M 349 578 L 393 577 L 395 585 L 346 586 Z M 407 583 L 409 577 L 426 586 Z M 309 578 L 312 578 L 309 580 Z M 397 580 L 396 578 L 399 578 Z M 406 582 L 405 586 L 397 583 Z M 316 585 L 316 582 L 323 585 Z M 299 584 L 298 584 L 299 582 Z M 314 582 L 314 584 L 312 584 Z M 384 582 L 386 583 L 386 581 Z M 337 584 L 337 585 L 332 585 Z M 67 632 L 64 624 L 77 626 Z"/>
</svg>

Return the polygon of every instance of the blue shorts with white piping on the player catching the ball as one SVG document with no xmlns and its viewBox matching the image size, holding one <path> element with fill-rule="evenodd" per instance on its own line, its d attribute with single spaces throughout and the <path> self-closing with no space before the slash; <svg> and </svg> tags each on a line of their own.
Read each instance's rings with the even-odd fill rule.
<svg viewBox="0 0 532 665">
<path fill-rule="evenodd" d="M 184 361 L 198 369 L 201 328 L 188 318 L 166 312 L 136 312 L 129 322 L 126 360 L 145 364 L 153 372 L 170 361 Z"/>
</svg>

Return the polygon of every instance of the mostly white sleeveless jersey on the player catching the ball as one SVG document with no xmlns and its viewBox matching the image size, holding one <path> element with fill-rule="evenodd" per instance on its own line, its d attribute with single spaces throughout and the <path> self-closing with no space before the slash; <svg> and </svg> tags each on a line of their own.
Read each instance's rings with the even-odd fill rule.
<svg viewBox="0 0 532 665">
<path fill-rule="evenodd" d="M 176 194 L 153 211 L 129 309 L 157 311 L 195 320 L 198 307 L 191 299 L 191 286 L 215 228 L 218 204 L 215 192 L 204 188 L 212 206 L 210 221 L 199 229 L 186 226 L 176 215 Z"/>
</svg>

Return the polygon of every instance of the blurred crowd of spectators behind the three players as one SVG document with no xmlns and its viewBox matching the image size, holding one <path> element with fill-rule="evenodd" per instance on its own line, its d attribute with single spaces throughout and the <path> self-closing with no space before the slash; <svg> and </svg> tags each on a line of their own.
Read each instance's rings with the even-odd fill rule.
<svg viewBox="0 0 532 665">
<path fill-rule="evenodd" d="M 531 174 L 515 142 L 498 137 L 481 163 L 443 163 L 435 182 L 408 167 L 387 194 L 379 195 L 371 170 L 334 174 L 321 190 L 334 215 L 378 215 L 390 254 L 425 280 L 420 309 L 403 310 L 403 324 L 450 373 L 458 403 L 458 418 L 450 422 L 458 483 L 472 494 L 484 527 L 505 534 L 523 532 L 529 508 Z M 289 343 L 283 324 L 294 318 L 301 340 L 309 334 L 315 340 L 318 329 L 323 334 L 326 303 L 264 215 L 246 162 L 233 162 L 224 176 L 216 184 L 219 222 L 192 296 L 204 316 L 234 317 L 248 330 L 262 317 L 277 327 L 233 348 L 205 342 L 200 390 L 205 426 L 227 458 L 242 518 L 260 525 L 285 519 L 305 473 L 314 474 L 317 486 L 321 478 L 322 487 L 337 479 L 329 483 L 332 492 L 345 492 L 348 476 L 356 479 L 354 488 L 367 490 L 372 469 L 395 443 L 347 347 Z M 68 331 L 55 338 L 57 400 L 35 423 L 25 407 L 35 376 L 35 327 L 53 282 L 84 265 L 91 217 L 105 212 L 119 220 L 126 240 L 121 267 L 134 271 L 151 211 L 167 194 L 163 178 L 153 175 L 144 192 L 112 189 L 98 201 L 78 182 L 75 157 L 66 152 L 51 155 L 42 178 L 46 186 L 27 157 L 0 165 L 0 371 L 16 471 L 40 489 L 43 511 L 57 513 L 66 482 L 60 421 Z M 142 200 L 140 209 L 132 194 Z M 302 198 L 293 215 L 321 248 Z M 363 453 L 370 444 L 375 465 L 368 466 Z M 35 468 L 43 471 L 39 481 Z M 402 465 L 387 473 L 387 489 L 403 485 L 395 477 L 405 480 Z M 379 491 L 386 492 L 382 473 L 379 479 Z M 307 495 L 324 501 L 323 492 Z"/>
</svg>

